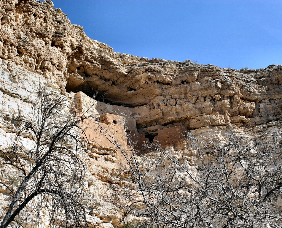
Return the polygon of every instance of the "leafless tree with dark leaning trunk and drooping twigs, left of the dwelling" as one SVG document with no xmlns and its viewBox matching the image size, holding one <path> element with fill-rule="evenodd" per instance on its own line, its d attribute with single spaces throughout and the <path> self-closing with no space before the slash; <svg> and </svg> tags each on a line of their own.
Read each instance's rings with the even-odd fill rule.
<svg viewBox="0 0 282 228">
<path fill-rule="evenodd" d="M 73 98 L 40 85 L 29 117 L 16 119 L 22 128 L 13 147 L 1 151 L 0 183 L 9 191 L 10 204 L 0 228 L 44 222 L 44 216 L 57 227 L 88 227 L 83 203 L 86 147 L 80 126 L 86 118 L 95 117 L 79 112 Z M 23 137 L 31 140 L 32 149 L 19 146 Z M 4 181 L 12 170 L 14 180 Z"/>
</svg>

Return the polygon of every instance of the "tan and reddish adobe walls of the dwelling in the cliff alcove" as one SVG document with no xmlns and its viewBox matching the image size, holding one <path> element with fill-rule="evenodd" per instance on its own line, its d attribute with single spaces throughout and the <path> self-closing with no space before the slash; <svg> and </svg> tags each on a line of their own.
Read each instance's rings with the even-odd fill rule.
<svg viewBox="0 0 282 228">
<path fill-rule="evenodd" d="M 98 102 L 83 92 L 76 93 L 74 98 L 79 110 L 84 112 L 88 110 L 88 115 L 96 116 L 96 118 L 87 119 L 82 123 L 87 138 L 93 147 L 112 149 L 116 152 L 120 149 L 130 151 L 128 147 L 129 137 L 136 152 L 147 152 L 143 145 L 150 142 L 145 134 L 137 132 L 134 116 L 137 113 L 133 112 L 133 108 Z M 126 117 L 123 115 L 126 115 Z M 138 113 L 138 115 L 141 114 Z M 184 126 L 158 129 L 158 135 L 154 137 L 154 142 L 158 142 L 162 148 L 171 145 L 177 147 L 178 142 L 183 140 L 186 131 L 187 128 Z"/>
</svg>

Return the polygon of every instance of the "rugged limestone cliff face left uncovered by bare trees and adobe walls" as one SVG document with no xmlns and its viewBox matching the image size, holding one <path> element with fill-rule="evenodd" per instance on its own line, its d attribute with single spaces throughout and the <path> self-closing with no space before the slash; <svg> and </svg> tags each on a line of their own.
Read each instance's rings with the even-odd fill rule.
<svg viewBox="0 0 282 228">
<path fill-rule="evenodd" d="M 231 125 L 269 132 L 281 127 L 282 65 L 239 71 L 117 53 L 87 37 L 50 0 L 0 0 L 0 19 L 0 149 L 12 144 L 16 125 L 11 120 L 28 116 L 40 80 L 62 94 L 95 94 L 97 115 L 129 114 L 136 141 L 173 134 L 171 142 L 179 144 L 186 130 L 205 135 Z M 88 186 L 98 197 L 118 158 L 103 151 L 103 142 L 100 138 L 89 151 Z M 23 138 L 24 146 L 29 143 Z M 0 193 L 4 199 L 6 190 Z M 90 214 L 104 227 L 117 226 L 121 213 L 105 207 Z"/>
</svg>

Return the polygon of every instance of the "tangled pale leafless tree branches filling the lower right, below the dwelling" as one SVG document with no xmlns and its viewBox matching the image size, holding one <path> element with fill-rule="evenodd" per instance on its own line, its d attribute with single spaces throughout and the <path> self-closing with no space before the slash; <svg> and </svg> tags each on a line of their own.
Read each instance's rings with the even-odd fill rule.
<svg viewBox="0 0 282 228">
<path fill-rule="evenodd" d="M 190 153 L 153 144 L 141 157 L 124 153 L 125 182 L 113 184 L 111 200 L 124 221 L 137 218 L 125 227 L 282 227 L 280 134 L 232 130 L 223 141 L 187 138 Z"/>
</svg>

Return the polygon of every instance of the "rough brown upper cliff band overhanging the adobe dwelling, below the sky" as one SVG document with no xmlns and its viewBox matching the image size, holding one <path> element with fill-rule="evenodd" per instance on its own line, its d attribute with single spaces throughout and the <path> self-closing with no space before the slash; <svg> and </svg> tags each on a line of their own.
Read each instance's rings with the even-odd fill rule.
<svg viewBox="0 0 282 228">
<path fill-rule="evenodd" d="M 245 127 L 282 117 L 282 65 L 238 71 L 117 53 L 50 0 L 1 0 L 0 18 L 1 59 L 54 80 L 63 92 L 134 108 L 138 132 L 147 136 L 173 126 Z"/>
</svg>

